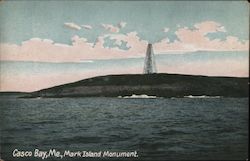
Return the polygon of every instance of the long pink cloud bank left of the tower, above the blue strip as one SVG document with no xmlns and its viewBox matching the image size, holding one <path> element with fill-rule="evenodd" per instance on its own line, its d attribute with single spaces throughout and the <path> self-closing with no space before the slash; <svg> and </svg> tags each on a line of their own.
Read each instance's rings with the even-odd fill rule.
<svg viewBox="0 0 250 161">
<path fill-rule="evenodd" d="M 104 47 L 105 38 L 112 37 L 115 41 L 126 41 L 129 50 L 118 47 Z M 52 40 L 32 38 L 21 45 L 0 44 L 0 60 L 6 61 L 36 61 L 36 62 L 81 62 L 96 59 L 122 59 L 144 56 L 147 42 L 142 41 L 137 33 L 103 35 L 95 43 L 90 43 L 84 37 L 77 35 L 71 38 L 72 44 L 55 43 Z"/>
</svg>

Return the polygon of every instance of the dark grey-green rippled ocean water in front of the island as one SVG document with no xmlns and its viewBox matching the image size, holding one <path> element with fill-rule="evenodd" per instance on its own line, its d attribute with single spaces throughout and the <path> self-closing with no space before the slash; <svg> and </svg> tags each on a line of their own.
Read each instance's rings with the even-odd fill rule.
<svg viewBox="0 0 250 161">
<path fill-rule="evenodd" d="M 248 158 L 248 98 L 0 98 L 1 158 L 18 160 L 229 160 Z M 30 157 L 13 152 L 30 151 Z M 34 157 L 134 152 L 136 157 Z M 16 151 L 15 151 L 16 152 Z"/>
</svg>

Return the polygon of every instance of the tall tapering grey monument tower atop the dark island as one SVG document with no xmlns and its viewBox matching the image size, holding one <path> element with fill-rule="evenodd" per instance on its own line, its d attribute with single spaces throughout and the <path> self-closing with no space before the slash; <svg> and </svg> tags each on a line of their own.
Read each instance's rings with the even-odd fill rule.
<svg viewBox="0 0 250 161">
<path fill-rule="evenodd" d="M 143 74 L 153 74 L 153 73 L 157 73 L 153 45 L 148 44 L 144 62 Z"/>
</svg>

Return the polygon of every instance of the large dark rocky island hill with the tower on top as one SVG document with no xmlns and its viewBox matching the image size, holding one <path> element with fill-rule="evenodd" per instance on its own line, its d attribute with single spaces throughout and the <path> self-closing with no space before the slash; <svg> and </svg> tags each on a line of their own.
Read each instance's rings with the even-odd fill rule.
<svg viewBox="0 0 250 161">
<path fill-rule="evenodd" d="M 248 97 L 248 78 L 207 77 L 178 74 L 107 75 L 27 94 L 25 97 Z"/>
</svg>

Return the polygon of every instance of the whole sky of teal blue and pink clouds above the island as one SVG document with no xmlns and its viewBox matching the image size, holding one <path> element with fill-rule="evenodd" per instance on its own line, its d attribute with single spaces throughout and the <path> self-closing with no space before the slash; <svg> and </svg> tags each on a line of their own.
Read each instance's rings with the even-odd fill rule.
<svg viewBox="0 0 250 161">
<path fill-rule="evenodd" d="M 249 76 L 246 1 L 1 1 L 0 91 L 141 74 Z"/>
</svg>

